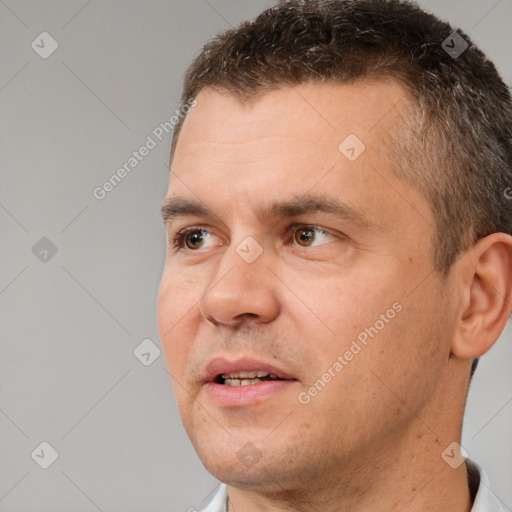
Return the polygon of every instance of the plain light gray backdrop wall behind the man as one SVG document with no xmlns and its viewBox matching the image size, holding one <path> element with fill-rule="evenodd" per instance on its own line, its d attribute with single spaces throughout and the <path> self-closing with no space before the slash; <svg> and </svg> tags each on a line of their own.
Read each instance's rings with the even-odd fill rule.
<svg viewBox="0 0 512 512">
<path fill-rule="evenodd" d="M 202 44 L 273 3 L 0 0 L 0 512 L 170 512 L 215 489 L 163 356 L 133 353 L 159 346 L 170 135 L 105 199 L 92 191 L 172 114 Z M 512 0 L 419 3 L 512 84 Z M 31 48 L 43 31 L 59 45 L 47 59 Z M 512 510 L 511 336 L 481 361 L 463 446 Z M 43 441 L 48 469 L 31 457 Z"/>
</svg>

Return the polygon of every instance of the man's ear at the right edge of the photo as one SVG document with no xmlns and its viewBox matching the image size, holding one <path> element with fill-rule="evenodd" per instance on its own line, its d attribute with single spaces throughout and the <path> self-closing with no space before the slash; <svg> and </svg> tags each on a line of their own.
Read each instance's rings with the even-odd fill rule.
<svg viewBox="0 0 512 512">
<path fill-rule="evenodd" d="M 512 236 L 493 233 L 480 239 L 459 264 L 463 301 L 452 354 L 474 359 L 494 345 L 512 310 Z"/>
</svg>

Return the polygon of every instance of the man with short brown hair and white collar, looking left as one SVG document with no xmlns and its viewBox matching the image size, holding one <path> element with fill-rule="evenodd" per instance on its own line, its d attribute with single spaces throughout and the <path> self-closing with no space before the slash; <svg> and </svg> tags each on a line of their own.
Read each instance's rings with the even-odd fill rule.
<svg viewBox="0 0 512 512">
<path fill-rule="evenodd" d="M 288 1 L 189 68 L 158 320 L 208 512 L 499 511 L 460 447 L 511 312 L 512 102 L 398 0 Z"/>
</svg>

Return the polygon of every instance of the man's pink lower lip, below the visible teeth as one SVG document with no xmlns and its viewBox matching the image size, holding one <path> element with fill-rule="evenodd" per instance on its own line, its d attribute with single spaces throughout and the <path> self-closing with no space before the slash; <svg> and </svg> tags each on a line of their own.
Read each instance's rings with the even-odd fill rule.
<svg viewBox="0 0 512 512">
<path fill-rule="evenodd" d="M 297 380 L 263 381 L 247 386 L 227 386 L 207 382 L 204 388 L 209 398 L 223 407 L 240 407 L 257 404 L 269 396 L 290 389 Z"/>
</svg>

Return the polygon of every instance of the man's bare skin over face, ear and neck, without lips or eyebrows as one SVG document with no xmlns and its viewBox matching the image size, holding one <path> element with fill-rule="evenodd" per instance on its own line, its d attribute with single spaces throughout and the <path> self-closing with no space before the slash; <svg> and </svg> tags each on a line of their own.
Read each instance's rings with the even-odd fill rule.
<svg viewBox="0 0 512 512">
<path fill-rule="evenodd" d="M 434 271 L 430 208 L 393 175 L 386 151 L 407 109 L 397 84 L 303 84 L 251 104 L 207 88 L 197 100 L 167 198 L 215 215 L 167 223 L 158 323 L 183 425 L 228 484 L 230 512 L 469 511 L 465 465 L 452 469 L 441 454 L 460 442 L 471 359 L 510 313 L 511 238 L 490 235 L 447 277 Z M 349 134 L 365 144 L 355 161 L 338 149 Z M 313 193 L 367 222 L 258 214 Z M 301 225 L 323 232 L 301 244 Z M 207 231 L 202 242 L 174 249 L 176 233 L 194 226 Z M 263 249 L 252 263 L 236 251 L 247 236 Z M 400 312 L 301 403 L 393 304 Z M 297 382 L 251 406 L 221 407 L 201 379 L 217 356 L 263 359 Z M 250 466 L 239 457 L 247 443 L 258 454 Z"/>
</svg>

